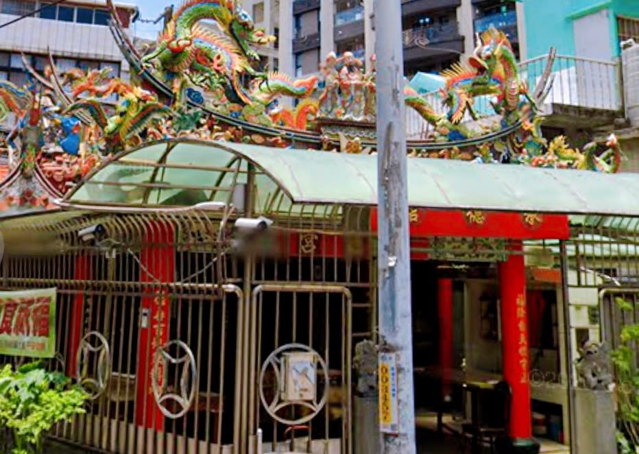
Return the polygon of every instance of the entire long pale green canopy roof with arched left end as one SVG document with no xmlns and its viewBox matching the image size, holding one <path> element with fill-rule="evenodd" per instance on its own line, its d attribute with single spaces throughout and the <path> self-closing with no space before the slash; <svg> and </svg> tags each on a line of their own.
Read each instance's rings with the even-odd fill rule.
<svg viewBox="0 0 639 454">
<path fill-rule="evenodd" d="M 221 200 L 219 187 L 232 184 L 228 169 L 240 169 L 237 182 L 244 182 L 249 164 L 259 174 L 258 198 L 283 191 L 292 202 L 377 204 L 376 156 L 198 141 L 168 141 L 121 154 L 65 202 L 189 206 Z M 408 185 L 415 208 L 639 215 L 636 174 L 409 158 Z"/>
</svg>

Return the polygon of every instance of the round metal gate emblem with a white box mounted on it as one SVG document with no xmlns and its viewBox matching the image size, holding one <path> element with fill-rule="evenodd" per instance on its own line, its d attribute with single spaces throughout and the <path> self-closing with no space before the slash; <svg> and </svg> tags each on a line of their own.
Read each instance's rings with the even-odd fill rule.
<svg viewBox="0 0 639 454">
<path fill-rule="evenodd" d="M 317 368 L 317 370 L 315 370 L 315 372 L 311 374 L 313 375 L 313 377 L 309 380 L 311 382 L 315 382 L 313 383 L 313 385 L 315 385 L 316 389 L 317 375 L 321 374 L 322 377 L 324 377 L 324 392 L 322 392 L 322 398 L 319 399 L 319 402 L 317 401 L 317 393 L 313 393 L 314 396 L 309 399 L 300 398 L 298 400 L 287 400 L 285 398 L 285 394 L 287 394 L 287 392 L 285 392 L 285 387 L 287 386 L 286 383 L 290 379 L 289 377 L 285 377 L 286 372 L 284 369 L 286 368 L 287 357 L 290 358 L 292 355 L 301 355 L 302 357 L 308 357 L 309 355 L 311 355 L 311 357 L 313 358 L 313 368 L 319 366 L 319 368 Z M 273 401 L 271 403 L 268 403 L 265 396 L 265 379 L 267 378 L 267 372 L 271 368 L 274 372 L 275 378 L 275 393 Z M 295 367 L 293 367 L 291 370 L 298 372 Z M 309 379 L 308 375 L 306 376 L 306 379 Z M 269 416 L 271 416 L 271 418 L 287 426 L 304 424 L 315 418 L 315 416 L 317 416 L 317 414 L 319 414 L 319 412 L 322 411 L 322 409 L 326 405 L 326 401 L 328 399 L 328 387 L 330 385 L 328 381 L 328 367 L 326 366 L 326 362 L 324 361 L 324 359 L 322 359 L 321 356 L 319 356 L 319 353 L 313 350 L 313 348 L 304 344 L 287 344 L 285 346 L 281 346 L 273 353 L 271 353 L 269 357 L 267 357 L 266 361 L 264 361 L 260 373 L 259 383 L 260 400 L 265 410 L 267 411 Z M 305 408 L 307 411 L 310 411 L 310 413 L 298 419 L 282 418 L 278 415 L 278 412 L 287 407 L 302 407 Z"/>
</svg>

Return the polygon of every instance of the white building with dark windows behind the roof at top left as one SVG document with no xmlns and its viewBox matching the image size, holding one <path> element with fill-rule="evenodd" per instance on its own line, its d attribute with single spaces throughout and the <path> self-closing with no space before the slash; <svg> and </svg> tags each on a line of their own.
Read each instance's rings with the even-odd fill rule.
<svg viewBox="0 0 639 454">
<path fill-rule="evenodd" d="M 134 5 L 118 4 L 120 20 L 129 28 L 136 19 Z M 104 0 L 64 1 L 52 4 L 34 0 L 0 0 L 0 24 L 30 15 L 0 28 L 0 78 L 17 86 L 26 82 L 22 60 L 43 70 L 51 51 L 62 71 L 111 68 L 112 75 L 125 79 L 129 67 L 108 28 L 110 12 Z"/>
</svg>

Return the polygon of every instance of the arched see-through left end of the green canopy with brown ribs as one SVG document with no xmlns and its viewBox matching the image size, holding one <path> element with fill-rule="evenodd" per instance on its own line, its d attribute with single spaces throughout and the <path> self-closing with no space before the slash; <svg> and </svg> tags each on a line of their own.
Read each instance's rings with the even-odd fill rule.
<svg viewBox="0 0 639 454">
<path fill-rule="evenodd" d="M 117 156 L 89 175 L 65 202 L 85 205 L 180 207 L 232 202 L 246 184 L 250 162 L 221 144 L 166 142 Z M 253 164 L 253 163 L 251 163 Z M 265 206 L 278 184 L 255 168 L 256 206 Z"/>
</svg>

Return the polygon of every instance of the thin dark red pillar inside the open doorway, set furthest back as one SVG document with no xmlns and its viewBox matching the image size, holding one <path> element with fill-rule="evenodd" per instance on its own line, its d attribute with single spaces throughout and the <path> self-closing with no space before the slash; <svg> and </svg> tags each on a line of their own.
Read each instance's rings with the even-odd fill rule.
<svg viewBox="0 0 639 454">
<path fill-rule="evenodd" d="M 437 282 L 439 307 L 439 366 L 442 368 L 442 396 L 450 399 L 450 370 L 453 369 L 453 279 Z"/>
</svg>

